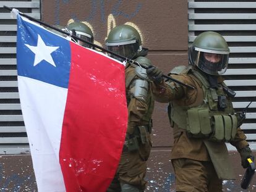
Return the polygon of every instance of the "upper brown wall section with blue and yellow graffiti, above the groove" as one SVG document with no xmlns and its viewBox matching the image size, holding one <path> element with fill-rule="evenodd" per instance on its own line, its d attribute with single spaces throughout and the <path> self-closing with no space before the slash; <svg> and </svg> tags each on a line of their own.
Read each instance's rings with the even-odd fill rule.
<svg viewBox="0 0 256 192">
<path fill-rule="evenodd" d="M 55 0 L 42 1 L 42 11 L 42 19 L 54 25 L 66 25 L 70 19 L 88 23 L 100 43 L 111 28 L 128 23 L 151 50 L 187 49 L 186 0 Z"/>
</svg>

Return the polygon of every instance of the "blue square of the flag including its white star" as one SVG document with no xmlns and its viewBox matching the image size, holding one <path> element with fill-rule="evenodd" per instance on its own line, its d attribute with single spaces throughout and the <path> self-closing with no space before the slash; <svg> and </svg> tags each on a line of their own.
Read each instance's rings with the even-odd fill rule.
<svg viewBox="0 0 256 192">
<path fill-rule="evenodd" d="M 17 18 L 18 75 L 67 88 L 70 68 L 69 41 L 29 20 Z"/>
</svg>

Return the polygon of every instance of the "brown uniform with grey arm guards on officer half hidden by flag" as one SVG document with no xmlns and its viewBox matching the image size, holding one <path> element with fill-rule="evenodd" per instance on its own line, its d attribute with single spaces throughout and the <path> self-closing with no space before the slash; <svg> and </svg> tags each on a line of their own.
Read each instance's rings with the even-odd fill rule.
<svg viewBox="0 0 256 192">
<path fill-rule="evenodd" d="M 150 62 L 145 57 L 138 57 L 135 61 L 143 65 Z M 151 115 L 154 101 L 146 70 L 134 64 L 126 66 L 126 98 L 129 114 L 126 142 L 108 191 L 121 191 L 121 185 L 124 184 L 143 191 L 147 184 L 144 178 L 151 150 Z"/>
</svg>

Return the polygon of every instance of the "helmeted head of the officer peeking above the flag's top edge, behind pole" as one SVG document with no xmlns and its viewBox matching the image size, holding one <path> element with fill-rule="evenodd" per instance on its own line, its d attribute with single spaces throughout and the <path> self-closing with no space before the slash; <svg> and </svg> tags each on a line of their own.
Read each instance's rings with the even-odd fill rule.
<svg viewBox="0 0 256 192">
<path fill-rule="evenodd" d="M 70 30 L 73 35 L 76 35 L 85 41 L 89 41 L 93 43 L 93 32 L 87 25 L 85 25 L 85 23 L 72 22 L 72 23 L 69 23 L 69 25 L 67 25 L 67 29 Z M 79 41 L 79 40 L 75 40 L 75 41 L 85 48 L 93 48 L 89 44 L 84 43 L 82 41 Z"/>
</svg>

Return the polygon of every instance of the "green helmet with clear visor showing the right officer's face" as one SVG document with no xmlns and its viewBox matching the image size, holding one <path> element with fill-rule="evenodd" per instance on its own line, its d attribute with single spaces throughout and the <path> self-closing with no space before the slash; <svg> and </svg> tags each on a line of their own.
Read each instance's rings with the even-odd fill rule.
<svg viewBox="0 0 256 192">
<path fill-rule="evenodd" d="M 222 75 L 228 68 L 229 48 L 219 33 L 206 31 L 189 48 L 189 62 L 210 75 Z"/>
</svg>

